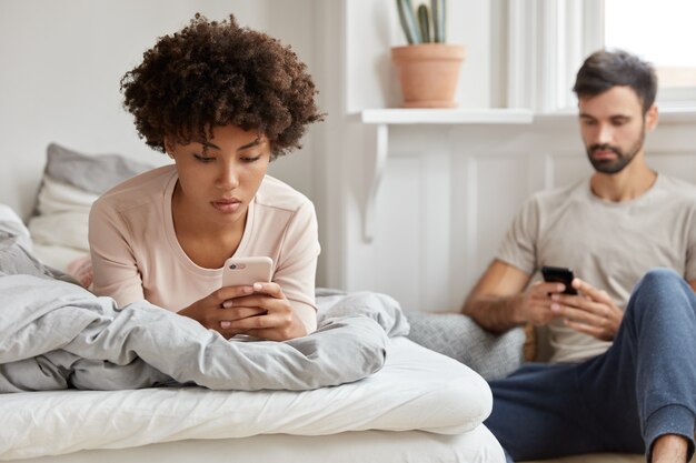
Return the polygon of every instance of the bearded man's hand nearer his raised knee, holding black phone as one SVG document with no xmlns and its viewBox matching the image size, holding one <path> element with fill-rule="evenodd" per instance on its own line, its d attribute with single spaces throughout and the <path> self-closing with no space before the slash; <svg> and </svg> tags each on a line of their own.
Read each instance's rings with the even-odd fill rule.
<svg viewBox="0 0 696 463">
<path fill-rule="evenodd" d="M 550 310 L 564 318 L 566 326 L 589 334 L 600 341 L 612 341 L 622 324 L 624 312 L 606 291 L 598 290 L 576 278 L 573 288 L 580 294 L 551 294 Z"/>
</svg>

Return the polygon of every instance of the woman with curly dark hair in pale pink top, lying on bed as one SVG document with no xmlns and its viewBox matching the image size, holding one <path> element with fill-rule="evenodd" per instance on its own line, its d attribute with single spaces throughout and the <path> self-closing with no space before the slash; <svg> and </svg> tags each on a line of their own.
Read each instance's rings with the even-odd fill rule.
<svg viewBox="0 0 696 463">
<path fill-rule="evenodd" d="M 266 174 L 322 119 L 289 47 L 197 14 L 121 80 L 145 142 L 173 163 L 105 193 L 90 213 L 93 291 L 146 299 L 230 338 L 316 329 L 312 203 Z M 221 288 L 230 256 L 269 256 L 271 282 Z"/>
</svg>

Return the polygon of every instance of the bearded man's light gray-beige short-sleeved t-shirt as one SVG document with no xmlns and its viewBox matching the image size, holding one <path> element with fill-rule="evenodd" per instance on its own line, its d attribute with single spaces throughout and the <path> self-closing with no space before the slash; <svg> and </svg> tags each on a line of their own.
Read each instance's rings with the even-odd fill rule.
<svg viewBox="0 0 696 463">
<path fill-rule="evenodd" d="M 625 309 L 653 268 L 696 280 L 696 185 L 660 174 L 646 193 L 622 202 L 594 195 L 588 179 L 537 192 L 515 217 L 496 258 L 528 274 L 544 265 L 569 266 Z M 612 344 L 560 320 L 549 334 L 553 362 L 579 362 Z"/>
</svg>

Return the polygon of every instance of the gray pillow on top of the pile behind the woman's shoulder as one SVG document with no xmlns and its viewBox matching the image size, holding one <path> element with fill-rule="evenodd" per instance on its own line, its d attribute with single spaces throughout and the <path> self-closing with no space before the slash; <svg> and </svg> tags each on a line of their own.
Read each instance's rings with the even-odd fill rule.
<svg viewBox="0 0 696 463">
<path fill-rule="evenodd" d="M 153 168 L 120 154 L 87 155 L 56 143 L 49 144 L 47 155 L 46 174 L 96 194 Z"/>
</svg>

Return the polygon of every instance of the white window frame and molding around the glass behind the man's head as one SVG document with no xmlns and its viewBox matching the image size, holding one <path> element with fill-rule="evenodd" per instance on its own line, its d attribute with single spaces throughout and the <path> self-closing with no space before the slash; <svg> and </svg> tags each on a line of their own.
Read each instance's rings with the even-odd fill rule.
<svg viewBox="0 0 696 463">
<path fill-rule="evenodd" d="M 604 6 L 605 0 L 509 0 L 508 107 L 536 113 L 576 110 L 575 73 L 605 46 Z M 657 103 L 696 112 L 696 85 L 659 87 Z"/>
</svg>

